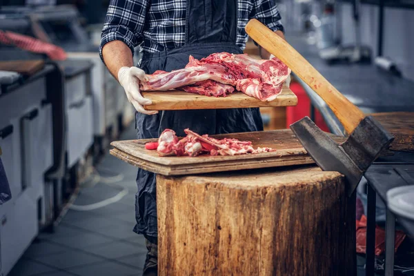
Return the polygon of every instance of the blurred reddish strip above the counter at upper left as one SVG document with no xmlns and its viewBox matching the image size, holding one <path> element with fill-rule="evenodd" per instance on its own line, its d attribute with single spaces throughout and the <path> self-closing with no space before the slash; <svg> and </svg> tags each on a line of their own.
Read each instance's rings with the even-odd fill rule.
<svg viewBox="0 0 414 276">
<path fill-rule="evenodd" d="M 28 50 L 29 52 L 46 54 L 52 60 L 63 61 L 67 57 L 66 52 L 58 46 L 15 32 L 3 32 L 0 30 L 0 42 Z"/>
</svg>

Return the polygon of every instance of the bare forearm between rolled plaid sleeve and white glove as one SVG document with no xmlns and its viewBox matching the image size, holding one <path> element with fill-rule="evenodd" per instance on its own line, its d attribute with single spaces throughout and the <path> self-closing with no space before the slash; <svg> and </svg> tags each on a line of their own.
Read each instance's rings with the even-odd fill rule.
<svg viewBox="0 0 414 276">
<path fill-rule="evenodd" d="M 119 69 L 122 67 L 134 66 L 130 48 L 126 45 L 126 43 L 119 40 L 110 41 L 103 46 L 102 59 L 105 62 L 109 72 L 115 77 L 115 79 L 117 79 L 117 81 L 119 81 Z"/>
</svg>

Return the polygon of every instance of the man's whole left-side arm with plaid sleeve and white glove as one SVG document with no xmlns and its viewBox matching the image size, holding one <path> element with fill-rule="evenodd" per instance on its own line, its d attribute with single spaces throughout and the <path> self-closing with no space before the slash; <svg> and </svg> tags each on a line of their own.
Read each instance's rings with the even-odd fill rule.
<svg viewBox="0 0 414 276">
<path fill-rule="evenodd" d="M 135 109 L 153 115 L 158 111 L 145 110 L 144 106 L 151 101 L 142 97 L 139 90 L 145 72 L 135 67 L 132 59 L 135 46 L 142 41 L 147 6 L 147 0 L 110 0 L 99 55 Z"/>
</svg>

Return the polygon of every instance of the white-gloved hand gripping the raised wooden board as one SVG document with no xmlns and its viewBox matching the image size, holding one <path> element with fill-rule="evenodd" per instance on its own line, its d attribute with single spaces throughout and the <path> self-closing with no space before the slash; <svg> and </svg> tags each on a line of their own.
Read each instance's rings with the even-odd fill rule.
<svg viewBox="0 0 414 276">
<path fill-rule="evenodd" d="M 135 66 L 122 67 L 118 71 L 118 81 L 124 88 L 128 101 L 132 103 L 132 106 L 141 113 L 146 115 L 157 114 L 157 110 L 145 110 L 144 106 L 151 104 L 149 99 L 142 97 L 139 92 L 139 81 L 144 81 L 145 72 Z"/>
</svg>

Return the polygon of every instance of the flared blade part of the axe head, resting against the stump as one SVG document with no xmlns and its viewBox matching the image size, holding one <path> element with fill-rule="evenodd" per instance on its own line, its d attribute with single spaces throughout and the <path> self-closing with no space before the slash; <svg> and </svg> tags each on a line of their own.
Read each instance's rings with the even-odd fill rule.
<svg viewBox="0 0 414 276">
<path fill-rule="evenodd" d="M 351 196 L 364 172 L 348 156 L 344 148 L 328 137 L 309 117 L 291 124 L 290 129 L 319 168 L 340 172 L 346 177 L 347 193 Z"/>
</svg>

